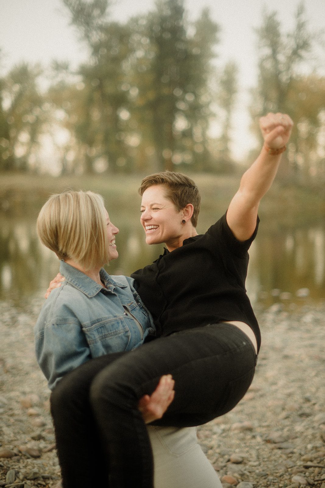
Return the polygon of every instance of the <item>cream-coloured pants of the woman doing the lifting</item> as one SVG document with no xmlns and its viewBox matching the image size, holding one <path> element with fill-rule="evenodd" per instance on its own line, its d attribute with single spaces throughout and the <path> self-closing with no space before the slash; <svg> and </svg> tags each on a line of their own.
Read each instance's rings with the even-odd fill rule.
<svg viewBox="0 0 325 488">
<path fill-rule="evenodd" d="M 148 426 L 154 457 L 154 488 L 222 488 L 197 442 L 196 427 Z"/>
</svg>

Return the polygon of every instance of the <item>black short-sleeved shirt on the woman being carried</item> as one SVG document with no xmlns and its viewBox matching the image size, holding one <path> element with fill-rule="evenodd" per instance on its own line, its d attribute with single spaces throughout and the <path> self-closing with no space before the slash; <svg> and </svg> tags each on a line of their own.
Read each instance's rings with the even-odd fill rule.
<svg viewBox="0 0 325 488">
<path fill-rule="evenodd" d="M 135 271 L 134 286 L 153 315 L 157 336 L 207 324 L 238 320 L 248 324 L 261 345 L 259 326 L 246 294 L 248 249 L 221 217 L 208 231 Z"/>
</svg>

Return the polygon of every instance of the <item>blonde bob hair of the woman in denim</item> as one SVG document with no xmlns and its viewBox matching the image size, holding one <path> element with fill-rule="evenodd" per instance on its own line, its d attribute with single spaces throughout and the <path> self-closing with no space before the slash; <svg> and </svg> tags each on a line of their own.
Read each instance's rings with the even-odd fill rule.
<svg viewBox="0 0 325 488">
<path fill-rule="evenodd" d="M 108 263 L 104 200 L 97 193 L 52 195 L 39 212 L 37 233 L 59 259 L 72 259 L 86 270 Z"/>
</svg>

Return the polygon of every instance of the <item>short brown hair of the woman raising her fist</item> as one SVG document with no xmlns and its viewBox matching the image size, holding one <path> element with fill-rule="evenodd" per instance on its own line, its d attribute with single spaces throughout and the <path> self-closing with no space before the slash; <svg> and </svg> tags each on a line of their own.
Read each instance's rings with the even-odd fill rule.
<svg viewBox="0 0 325 488">
<path fill-rule="evenodd" d="M 146 176 L 141 182 L 139 194 L 142 196 L 143 192 L 150 186 L 161 184 L 166 187 L 166 198 L 168 198 L 179 212 L 191 203 L 194 207 L 191 223 L 194 227 L 197 225 L 197 219 L 200 212 L 201 196 L 196 184 L 183 173 L 175 173 L 173 171 L 161 171 L 153 175 Z"/>
</svg>

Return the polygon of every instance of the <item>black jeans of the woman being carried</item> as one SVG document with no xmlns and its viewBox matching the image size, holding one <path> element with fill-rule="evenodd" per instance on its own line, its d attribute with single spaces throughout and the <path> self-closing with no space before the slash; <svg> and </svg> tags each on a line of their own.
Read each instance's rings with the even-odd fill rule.
<svg viewBox="0 0 325 488">
<path fill-rule="evenodd" d="M 253 379 L 256 354 L 234 325 L 207 325 L 79 366 L 51 395 L 64 488 L 153 488 L 153 456 L 137 409 L 163 374 L 175 398 L 154 424 L 191 427 L 231 410 Z"/>
</svg>

